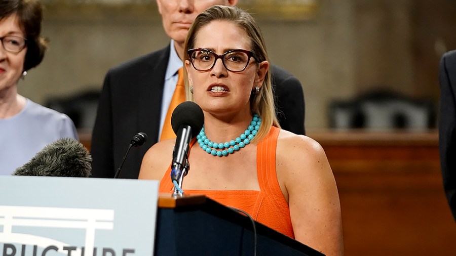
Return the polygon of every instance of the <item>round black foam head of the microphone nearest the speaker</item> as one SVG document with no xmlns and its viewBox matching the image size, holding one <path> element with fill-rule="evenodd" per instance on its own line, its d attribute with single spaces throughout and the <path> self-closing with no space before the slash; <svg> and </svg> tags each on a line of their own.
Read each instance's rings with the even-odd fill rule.
<svg viewBox="0 0 456 256">
<path fill-rule="evenodd" d="M 192 138 L 200 133 L 204 124 L 204 114 L 198 104 L 192 101 L 184 101 L 177 105 L 171 115 L 171 126 L 176 135 L 179 126 L 182 124 L 192 127 Z"/>
</svg>

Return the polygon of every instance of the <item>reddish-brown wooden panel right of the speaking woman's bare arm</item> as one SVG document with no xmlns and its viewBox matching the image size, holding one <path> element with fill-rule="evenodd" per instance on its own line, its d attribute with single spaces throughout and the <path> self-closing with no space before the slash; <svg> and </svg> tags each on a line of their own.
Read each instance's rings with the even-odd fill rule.
<svg viewBox="0 0 456 256">
<path fill-rule="evenodd" d="M 346 255 L 456 255 L 435 131 L 309 136 L 337 182 Z"/>
</svg>

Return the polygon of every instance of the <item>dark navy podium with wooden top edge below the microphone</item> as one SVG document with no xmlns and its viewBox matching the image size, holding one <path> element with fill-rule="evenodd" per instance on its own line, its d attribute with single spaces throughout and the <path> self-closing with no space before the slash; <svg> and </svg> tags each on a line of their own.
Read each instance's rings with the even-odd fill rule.
<svg viewBox="0 0 456 256">
<path fill-rule="evenodd" d="M 323 255 L 203 195 L 160 194 L 155 255 Z"/>
</svg>

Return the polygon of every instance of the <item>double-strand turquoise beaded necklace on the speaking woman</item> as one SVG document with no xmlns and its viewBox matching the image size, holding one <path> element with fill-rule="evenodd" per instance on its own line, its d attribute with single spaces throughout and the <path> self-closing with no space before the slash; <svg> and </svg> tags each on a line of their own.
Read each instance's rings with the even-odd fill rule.
<svg viewBox="0 0 456 256">
<path fill-rule="evenodd" d="M 250 144 L 250 141 L 255 138 L 258 133 L 260 124 L 261 117 L 254 114 L 247 130 L 245 130 L 245 132 L 236 139 L 225 143 L 216 143 L 209 140 L 204 132 L 203 125 L 200 134 L 197 135 L 198 143 L 204 151 L 212 154 L 213 156 L 227 156 L 229 154 L 233 154 L 235 151 L 239 151 L 241 148 L 244 148 L 245 145 Z"/>
</svg>

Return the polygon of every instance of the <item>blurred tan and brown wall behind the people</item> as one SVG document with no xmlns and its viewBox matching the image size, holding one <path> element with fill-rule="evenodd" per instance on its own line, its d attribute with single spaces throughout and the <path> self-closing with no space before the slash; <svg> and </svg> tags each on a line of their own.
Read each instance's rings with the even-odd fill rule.
<svg viewBox="0 0 456 256">
<path fill-rule="evenodd" d="M 155 1 L 50 4 L 56 1 L 83 2 L 47 1 L 43 34 L 50 49 L 19 83 L 19 92 L 38 103 L 100 90 L 108 68 L 169 43 Z M 310 1 L 318 5 L 312 15 L 301 12 L 302 19 L 281 19 L 250 2 L 239 5 L 257 18 L 272 62 L 302 83 L 308 129 L 328 127 L 333 100 L 377 87 L 431 99 L 437 107 L 439 58 L 456 49 L 456 1 Z"/>
</svg>

